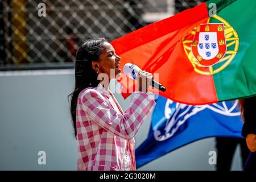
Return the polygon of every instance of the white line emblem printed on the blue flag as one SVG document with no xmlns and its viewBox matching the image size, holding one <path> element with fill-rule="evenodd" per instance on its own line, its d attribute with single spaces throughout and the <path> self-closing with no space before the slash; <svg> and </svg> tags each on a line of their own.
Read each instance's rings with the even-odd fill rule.
<svg viewBox="0 0 256 182">
<path fill-rule="evenodd" d="M 153 124 L 154 138 L 157 141 L 164 141 L 174 137 L 176 134 L 187 129 L 187 121 L 189 121 L 189 119 L 196 117 L 199 112 L 203 112 L 201 115 L 206 115 L 207 113 L 204 112 L 208 112 L 208 109 L 215 115 L 214 117 L 218 117 L 217 114 L 227 117 L 240 116 L 241 113 L 240 110 L 237 109 L 237 106 L 238 100 L 232 102 L 218 102 L 211 105 L 191 106 L 179 104 L 167 99 L 164 108 L 164 117 Z M 228 125 L 230 125 L 230 123 L 224 122 L 221 125 L 229 127 Z"/>
</svg>

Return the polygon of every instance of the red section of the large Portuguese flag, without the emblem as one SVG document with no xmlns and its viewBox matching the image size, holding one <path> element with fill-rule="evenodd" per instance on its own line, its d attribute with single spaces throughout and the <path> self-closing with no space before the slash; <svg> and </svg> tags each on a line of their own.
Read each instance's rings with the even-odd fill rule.
<svg viewBox="0 0 256 182">
<path fill-rule="evenodd" d="M 201 3 L 114 40 L 112 45 L 122 57 L 121 68 L 133 63 L 142 70 L 159 73 L 159 82 L 167 88 L 159 94 L 176 102 L 192 105 L 217 102 L 212 76 L 194 71 L 182 43 L 184 36 L 199 24 L 207 23 L 208 18 L 207 6 Z M 127 97 L 126 88 L 132 85 L 124 77 L 121 80 L 122 95 Z"/>
</svg>

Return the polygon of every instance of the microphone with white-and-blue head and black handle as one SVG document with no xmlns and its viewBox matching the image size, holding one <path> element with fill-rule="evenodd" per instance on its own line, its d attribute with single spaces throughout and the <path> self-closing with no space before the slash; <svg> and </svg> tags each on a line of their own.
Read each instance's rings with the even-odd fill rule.
<svg viewBox="0 0 256 182">
<path fill-rule="evenodd" d="M 129 78 L 132 78 L 134 80 L 137 80 L 137 75 L 139 72 L 141 72 L 142 69 L 137 67 L 137 65 L 135 64 L 131 64 L 131 63 L 126 63 L 123 66 L 123 73 L 125 73 L 125 75 L 127 75 Z M 159 82 L 155 81 L 155 80 L 151 80 L 150 84 L 155 88 L 158 89 L 162 92 L 166 91 L 166 88 L 162 85 L 159 84 Z"/>
</svg>

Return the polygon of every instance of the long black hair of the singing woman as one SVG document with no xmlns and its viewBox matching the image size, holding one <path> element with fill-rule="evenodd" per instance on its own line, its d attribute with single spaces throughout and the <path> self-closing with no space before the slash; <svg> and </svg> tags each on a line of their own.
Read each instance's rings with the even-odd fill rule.
<svg viewBox="0 0 256 182">
<path fill-rule="evenodd" d="M 76 138 L 76 106 L 77 98 L 81 90 L 91 87 L 96 87 L 100 81 L 97 79 L 97 73 L 92 68 L 92 61 L 98 61 L 103 49 L 103 43 L 108 42 L 105 38 L 96 38 L 86 40 L 79 47 L 75 60 L 75 89 L 68 95 L 68 100 L 71 101 L 70 111 L 72 124 L 74 128 L 74 136 Z"/>
</svg>

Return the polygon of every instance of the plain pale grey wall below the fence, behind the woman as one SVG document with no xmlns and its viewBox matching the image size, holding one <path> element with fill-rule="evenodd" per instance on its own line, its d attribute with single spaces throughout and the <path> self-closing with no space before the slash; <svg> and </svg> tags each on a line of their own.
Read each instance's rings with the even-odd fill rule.
<svg viewBox="0 0 256 182">
<path fill-rule="evenodd" d="M 73 70 L 0 72 L 0 84 L 0 169 L 76 170 L 77 142 L 67 100 Z M 125 110 L 130 98 L 115 97 Z M 137 146 L 147 137 L 151 114 L 135 137 Z M 212 150 L 214 138 L 199 140 L 138 170 L 214 170 L 208 163 Z M 46 152 L 46 165 L 38 164 L 39 151 Z M 238 147 L 232 170 L 241 170 Z"/>
</svg>

